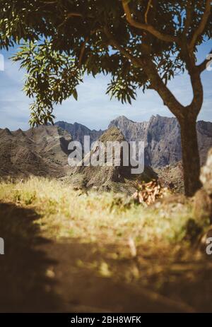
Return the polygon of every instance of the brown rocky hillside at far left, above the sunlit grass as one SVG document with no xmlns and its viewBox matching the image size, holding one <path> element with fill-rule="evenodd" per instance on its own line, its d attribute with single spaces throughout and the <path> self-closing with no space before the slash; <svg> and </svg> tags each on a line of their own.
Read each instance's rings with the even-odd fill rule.
<svg viewBox="0 0 212 327">
<path fill-rule="evenodd" d="M 0 129 L 0 176 L 61 177 L 69 169 L 71 135 L 57 126 L 39 126 L 28 131 Z"/>
</svg>

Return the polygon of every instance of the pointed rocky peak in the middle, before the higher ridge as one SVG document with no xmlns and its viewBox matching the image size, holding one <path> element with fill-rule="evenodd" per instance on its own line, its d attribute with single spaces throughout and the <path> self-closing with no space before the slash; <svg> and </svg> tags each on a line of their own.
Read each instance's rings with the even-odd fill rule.
<svg viewBox="0 0 212 327">
<path fill-rule="evenodd" d="M 100 136 L 99 141 L 105 145 L 105 165 L 93 167 L 92 165 L 86 166 L 85 162 L 88 161 L 88 157 L 98 155 L 98 146 L 90 150 L 84 158 L 81 164 L 71 172 L 70 182 L 75 184 L 76 187 L 86 189 L 98 189 L 101 191 L 124 191 L 131 194 L 135 191 L 136 181 L 148 182 L 151 179 L 156 179 L 157 174 L 151 169 L 151 167 L 145 167 L 142 174 L 131 174 L 131 167 L 124 167 L 123 165 L 123 153 L 120 149 L 121 162 L 120 165 L 112 165 L 108 167 L 106 160 L 106 147 L 107 141 L 117 141 L 121 143 L 125 141 L 122 132 L 117 127 L 111 127 L 107 129 L 105 133 Z M 114 162 L 114 151 L 112 152 L 112 162 Z M 68 177 L 69 178 L 69 177 Z"/>
</svg>

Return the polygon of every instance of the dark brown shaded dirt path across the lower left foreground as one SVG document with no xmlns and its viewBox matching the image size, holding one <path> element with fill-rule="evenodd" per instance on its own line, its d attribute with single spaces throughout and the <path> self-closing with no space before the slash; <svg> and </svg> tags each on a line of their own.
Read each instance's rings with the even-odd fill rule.
<svg viewBox="0 0 212 327">
<path fill-rule="evenodd" d="M 34 210 L 0 203 L 0 237 L 5 240 L 1 312 L 192 311 L 139 285 L 121 283 L 107 275 L 107 267 L 105 276 L 98 274 L 93 266 L 104 265 L 107 248 L 40 237 L 37 218 Z"/>
</svg>

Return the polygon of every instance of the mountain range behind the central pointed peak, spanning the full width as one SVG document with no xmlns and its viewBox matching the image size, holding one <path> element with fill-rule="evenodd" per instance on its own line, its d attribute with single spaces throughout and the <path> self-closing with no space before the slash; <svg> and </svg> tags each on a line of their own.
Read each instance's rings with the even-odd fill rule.
<svg viewBox="0 0 212 327">
<path fill-rule="evenodd" d="M 149 121 L 135 122 L 124 116 L 110 122 L 108 129 L 117 128 L 126 141 L 145 142 L 145 165 L 153 169 L 180 162 L 180 128 L 175 118 L 152 116 Z M 196 124 L 201 164 L 212 147 L 212 123 Z M 54 126 L 39 126 L 28 131 L 0 129 L 0 176 L 30 174 L 63 177 L 70 172 L 67 165 L 68 144 L 81 141 L 85 135 L 96 141 L 107 131 L 90 130 L 78 123 L 57 121 Z M 106 134 L 106 135 L 110 135 Z"/>
</svg>

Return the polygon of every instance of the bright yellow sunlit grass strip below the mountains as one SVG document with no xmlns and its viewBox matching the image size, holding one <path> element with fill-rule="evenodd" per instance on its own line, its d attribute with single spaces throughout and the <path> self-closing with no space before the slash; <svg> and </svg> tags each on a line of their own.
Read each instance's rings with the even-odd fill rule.
<svg viewBox="0 0 212 327">
<path fill-rule="evenodd" d="M 0 201 L 33 207 L 47 237 L 76 237 L 82 242 L 168 244 L 181 241 L 192 218 L 187 205 L 143 208 L 123 194 L 88 193 L 54 179 L 1 182 Z"/>
</svg>

